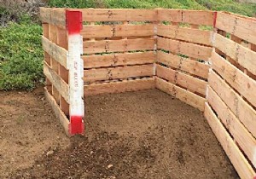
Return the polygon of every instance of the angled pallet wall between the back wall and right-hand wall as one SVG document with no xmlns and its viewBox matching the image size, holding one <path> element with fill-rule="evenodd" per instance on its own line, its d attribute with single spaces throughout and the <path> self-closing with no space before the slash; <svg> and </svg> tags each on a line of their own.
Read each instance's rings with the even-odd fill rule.
<svg viewBox="0 0 256 179">
<path fill-rule="evenodd" d="M 214 12 L 159 9 L 156 88 L 204 111 Z"/>
</svg>

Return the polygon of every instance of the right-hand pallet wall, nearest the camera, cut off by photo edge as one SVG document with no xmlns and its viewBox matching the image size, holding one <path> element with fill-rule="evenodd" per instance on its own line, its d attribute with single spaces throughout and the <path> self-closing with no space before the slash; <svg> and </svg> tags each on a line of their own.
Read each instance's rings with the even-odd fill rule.
<svg viewBox="0 0 256 179">
<path fill-rule="evenodd" d="M 205 116 L 241 178 L 256 176 L 256 20 L 219 12 Z"/>
</svg>

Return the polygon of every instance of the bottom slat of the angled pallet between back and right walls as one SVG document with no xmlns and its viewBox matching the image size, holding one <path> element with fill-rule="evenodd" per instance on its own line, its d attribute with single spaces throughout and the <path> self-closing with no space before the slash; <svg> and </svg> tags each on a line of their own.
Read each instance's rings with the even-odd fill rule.
<svg viewBox="0 0 256 179">
<path fill-rule="evenodd" d="M 195 95 L 188 90 L 183 90 L 182 88 L 157 77 L 155 78 L 155 86 L 157 89 L 160 89 L 169 95 L 177 97 L 177 99 L 179 99 L 180 101 L 183 101 L 192 107 L 204 111 L 204 103 L 206 99 L 202 98 L 201 96 Z"/>
</svg>

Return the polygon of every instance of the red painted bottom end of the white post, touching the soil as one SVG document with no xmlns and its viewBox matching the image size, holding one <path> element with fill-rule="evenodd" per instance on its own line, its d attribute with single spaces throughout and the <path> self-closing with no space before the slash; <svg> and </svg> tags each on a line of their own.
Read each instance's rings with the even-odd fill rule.
<svg viewBox="0 0 256 179">
<path fill-rule="evenodd" d="M 82 116 L 71 116 L 70 124 L 68 126 L 69 134 L 83 134 L 84 133 L 84 122 Z"/>
</svg>

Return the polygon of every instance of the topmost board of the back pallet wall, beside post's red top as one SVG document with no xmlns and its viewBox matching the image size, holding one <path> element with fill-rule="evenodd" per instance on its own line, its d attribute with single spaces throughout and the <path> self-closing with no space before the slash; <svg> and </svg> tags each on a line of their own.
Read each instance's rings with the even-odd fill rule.
<svg viewBox="0 0 256 179">
<path fill-rule="evenodd" d="M 72 9 L 83 13 L 83 21 L 154 21 L 155 9 Z"/>
</svg>

